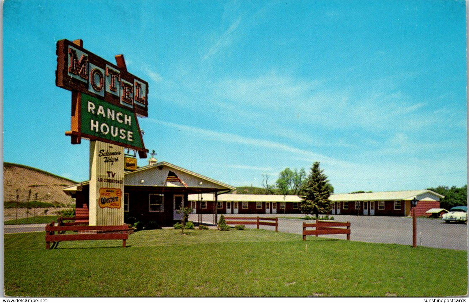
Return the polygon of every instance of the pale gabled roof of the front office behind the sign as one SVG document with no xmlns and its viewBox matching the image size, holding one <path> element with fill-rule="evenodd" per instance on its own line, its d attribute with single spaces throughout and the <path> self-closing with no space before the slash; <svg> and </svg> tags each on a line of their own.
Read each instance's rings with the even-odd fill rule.
<svg viewBox="0 0 469 303">
<path fill-rule="evenodd" d="M 152 173 L 151 170 L 156 170 L 157 173 Z M 132 172 L 125 172 L 124 173 L 124 185 L 139 185 L 139 186 L 183 186 L 182 184 L 174 184 L 174 182 L 165 182 L 166 177 L 167 177 L 167 172 L 168 170 L 173 171 L 175 174 L 177 174 L 179 177 L 182 177 L 184 175 L 184 178 L 182 178 L 183 181 L 189 183 L 189 187 L 199 187 L 199 188 L 205 188 L 205 187 L 211 187 L 211 188 L 218 188 L 218 189 L 235 189 L 233 186 L 225 184 L 223 182 L 219 182 L 217 180 L 211 179 L 209 177 L 206 177 L 201 174 L 197 174 L 195 172 L 192 172 L 188 169 L 178 167 L 174 164 L 168 163 L 168 162 L 159 162 L 153 165 L 147 165 L 144 167 L 137 168 L 137 170 L 132 171 Z M 149 178 L 152 175 L 157 175 L 159 174 L 159 179 L 157 181 L 151 180 L 152 182 L 148 183 L 145 182 L 144 184 L 140 184 L 140 178 Z M 127 180 L 126 180 L 127 179 Z M 138 184 L 132 184 L 132 181 L 138 180 Z M 206 184 L 209 183 L 210 185 L 207 186 Z M 75 185 L 71 185 L 68 187 L 63 188 L 63 191 L 66 193 L 74 192 L 78 189 L 78 187 L 83 186 L 83 185 L 89 185 L 90 181 L 84 181 L 80 182 Z M 134 182 L 135 183 L 135 182 Z M 178 183 L 178 182 L 176 182 Z"/>
</svg>

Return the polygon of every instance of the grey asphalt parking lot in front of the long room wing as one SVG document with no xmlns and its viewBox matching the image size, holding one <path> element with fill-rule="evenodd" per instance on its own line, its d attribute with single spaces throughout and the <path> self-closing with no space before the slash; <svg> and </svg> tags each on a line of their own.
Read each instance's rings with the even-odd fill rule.
<svg viewBox="0 0 469 303">
<path fill-rule="evenodd" d="M 227 215 L 225 215 L 227 216 Z M 239 217 L 257 217 L 256 214 L 229 215 Z M 279 232 L 302 234 L 302 222 L 312 220 L 284 219 L 282 217 L 303 217 L 302 214 L 260 214 L 259 217 L 279 217 Z M 219 217 L 219 215 L 218 215 Z M 199 216 L 192 214 L 189 220 L 197 222 Z M 213 215 L 202 215 L 202 221 L 213 223 Z M 412 245 L 412 218 L 381 216 L 334 215 L 334 221 L 351 223 L 351 241 L 396 243 Z M 256 228 L 255 225 L 247 225 Z M 274 230 L 274 227 L 262 228 Z M 440 219 L 417 218 L 417 245 L 467 250 L 467 224 L 447 224 Z M 321 237 L 345 239 L 345 235 L 321 235 Z"/>
</svg>

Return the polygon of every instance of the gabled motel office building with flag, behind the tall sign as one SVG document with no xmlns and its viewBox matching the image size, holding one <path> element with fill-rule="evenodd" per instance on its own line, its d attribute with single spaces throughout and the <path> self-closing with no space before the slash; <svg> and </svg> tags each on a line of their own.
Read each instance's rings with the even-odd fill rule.
<svg viewBox="0 0 469 303">
<path fill-rule="evenodd" d="M 162 226 L 171 226 L 174 220 L 181 220 L 179 208 L 182 204 L 192 206 L 194 213 L 199 210 L 189 195 L 210 195 L 214 202 L 207 207 L 214 209 L 220 193 L 235 189 L 233 186 L 191 172 L 167 162 L 156 163 L 151 158 L 149 165 L 136 171 L 124 173 L 123 211 L 124 222 L 155 221 Z M 89 181 L 63 189 L 76 198 L 76 208 L 89 209 Z"/>
</svg>

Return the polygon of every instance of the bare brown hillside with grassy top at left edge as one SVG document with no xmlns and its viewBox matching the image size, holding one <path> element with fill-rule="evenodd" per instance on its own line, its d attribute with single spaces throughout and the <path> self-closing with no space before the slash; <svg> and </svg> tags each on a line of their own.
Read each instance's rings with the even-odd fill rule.
<svg viewBox="0 0 469 303">
<path fill-rule="evenodd" d="M 77 182 L 21 164 L 3 162 L 3 201 L 70 204 L 62 188 Z M 18 197 L 18 198 L 17 198 Z"/>
</svg>

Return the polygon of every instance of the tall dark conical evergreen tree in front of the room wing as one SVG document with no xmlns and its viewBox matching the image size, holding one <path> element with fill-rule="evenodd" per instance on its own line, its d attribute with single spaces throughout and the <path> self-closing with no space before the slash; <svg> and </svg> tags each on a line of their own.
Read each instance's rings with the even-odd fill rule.
<svg viewBox="0 0 469 303">
<path fill-rule="evenodd" d="M 327 176 L 319 168 L 319 162 L 314 162 L 310 175 L 303 188 L 304 197 L 300 208 L 303 213 L 315 214 L 326 213 L 331 209 L 331 185 Z M 332 189 L 333 190 L 333 189 Z"/>
</svg>

